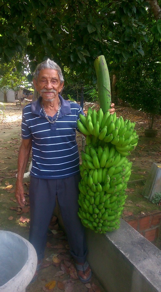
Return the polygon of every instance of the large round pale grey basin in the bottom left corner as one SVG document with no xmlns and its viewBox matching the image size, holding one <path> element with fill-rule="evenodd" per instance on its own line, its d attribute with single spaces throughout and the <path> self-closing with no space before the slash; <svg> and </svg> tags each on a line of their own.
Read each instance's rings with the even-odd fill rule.
<svg viewBox="0 0 161 292">
<path fill-rule="evenodd" d="M 10 231 L 0 231 L 0 291 L 25 292 L 37 266 L 30 242 Z"/>
</svg>

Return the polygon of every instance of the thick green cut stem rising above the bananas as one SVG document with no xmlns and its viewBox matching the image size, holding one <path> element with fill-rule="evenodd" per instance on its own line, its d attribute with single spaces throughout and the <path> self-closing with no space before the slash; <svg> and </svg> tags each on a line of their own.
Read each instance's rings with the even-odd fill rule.
<svg viewBox="0 0 161 292">
<path fill-rule="evenodd" d="M 103 55 L 97 57 L 94 61 L 97 85 L 98 85 L 98 99 L 100 108 L 105 114 L 110 109 L 111 104 L 111 87 L 109 79 L 109 71 L 107 68 L 106 60 Z"/>
</svg>

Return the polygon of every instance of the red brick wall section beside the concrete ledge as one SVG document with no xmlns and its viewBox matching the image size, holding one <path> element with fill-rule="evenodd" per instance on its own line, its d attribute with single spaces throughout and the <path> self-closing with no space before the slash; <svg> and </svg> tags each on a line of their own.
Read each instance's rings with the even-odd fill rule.
<svg viewBox="0 0 161 292">
<path fill-rule="evenodd" d="M 123 219 L 148 239 L 148 241 L 161 248 L 161 211 L 153 211 L 145 213 L 144 215 L 129 216 Z"/>
</svg>

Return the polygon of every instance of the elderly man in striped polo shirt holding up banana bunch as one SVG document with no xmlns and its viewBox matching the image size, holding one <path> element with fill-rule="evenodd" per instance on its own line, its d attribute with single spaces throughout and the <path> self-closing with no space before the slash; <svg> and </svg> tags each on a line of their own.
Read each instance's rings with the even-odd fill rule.
<svg viewBox="0 0 161 292">
<path fill-rule="evenodd" d="M 38 255 L 37 271 L 32 282 L 44 258 L 48 226 L 57 196 L 78 277 L 87 283 L 92 273 L 86 262 L 84 227 L 77 215 L 80 173 L 76 129 L 83 110 L 78 104 L 68 102 L 59 95 L 63 88 L 63 75 L 54 61 L 47 59 L 39 64 L 33 82 L 40 97 L 23 109 L 15 191 L 16 199 L 23 207 L 23 174 L 32 147 L 29 241 Z M 114 113 L 114 104 L 111 107 L 110 112 Z"/>
</svg>

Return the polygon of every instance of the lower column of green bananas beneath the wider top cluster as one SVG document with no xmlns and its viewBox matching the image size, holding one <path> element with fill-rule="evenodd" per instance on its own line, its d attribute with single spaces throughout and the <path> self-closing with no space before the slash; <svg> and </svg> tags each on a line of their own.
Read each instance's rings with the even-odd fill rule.
<svg viewBox="0 0 161 292">
<path fill-rule="evenodd" d="M 98 146 L 96 151 L 86 144 L 81 156 L 78 216 L 85 227 L 95 232 L 116 230 L 120 226 L 132 162 L 113 145 Z"/>
</svg>

